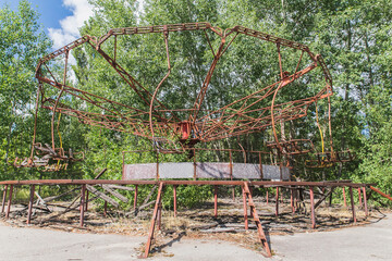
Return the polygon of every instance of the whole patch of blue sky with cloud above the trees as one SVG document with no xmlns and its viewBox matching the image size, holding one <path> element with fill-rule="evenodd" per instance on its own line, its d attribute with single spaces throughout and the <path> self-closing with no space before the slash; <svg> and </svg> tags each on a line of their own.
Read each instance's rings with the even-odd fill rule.
<svg viewBox="0 0 392 261">
<path fill-rule="evenodd" d="M 39 23 L 53 41 L 53 49 L 59 49 L 79 37 L 77 28 L 93 15 L 93 8 L 87 0 L 28 0 L 40 13 Z M 19 0 L 0 0 L 0 8 L 9 4 L 17 9 Z"/>
</svg>

